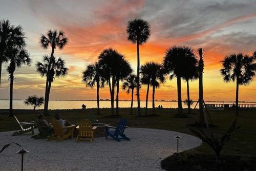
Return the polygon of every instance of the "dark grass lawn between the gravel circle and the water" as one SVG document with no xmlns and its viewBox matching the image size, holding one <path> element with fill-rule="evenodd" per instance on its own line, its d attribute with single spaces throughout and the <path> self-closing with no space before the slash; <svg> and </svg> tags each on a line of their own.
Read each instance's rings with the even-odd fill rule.
<svg viewBox="0 0 256 171">
<path fill-rule="evenodd" d="M 184 110 L 185 111 L 185 110 Z M 14 118 L 8 117 L 8 110 L 0 110 L 0 132 L 18 130 L 19 127 Z M 152 129 L 162 129 L 169 131 L 177 131 L 193 135 L 187 128 L 186 123 L 194 123 L 198 115 L 193 114 L 187 118 L 176 117 L 176 109 L 162 109 L 156 110 L 158 116 L 137 117 L 137 110 L 134 109 L 134 115 L 130 115 L 130 109 L 121 108 L 119 117 L 110 117 L 110 109 L 101 109 L 101 114 L 96 114 L 96 109 L 86 110 L 49 110 L 51 116 L 46 116 L 47 120 L 54 117 L 55 114 L 61 114 L 62 118 L 68 119 L 71 123 L 79 123 L 81 119 L 88 118 L 90 120 L 98 119 L 99 123 L 109 123 L 115 125 L 121 117 L 128 120 L 130 127 L 145 127 Z M 186 111 L 185 111 L 186 112 Z M 196 111 L 193 111 L 197 113 Z M 37 114 L 42 113 L 41 110 L 14 110 L 14 114 L 20 121 L 33 121 L 36 120 Z M 144 111 L 142 110 L 142 113 Z M 231 122 L 234 120 L 235 115 L 233 111 L 216 111 L 210 113 L 210 117 L 217 127 L 210 128 L 209 130 L 217 136 L 222 136 Z M 242 127 L 237 131 L 230 142 L 224 146 L 222 155 L 228 156 L 256 156 L 256 111 L 240 111 L 238 116 L 238 124 Z M 173 139 L 176 141 L 176 139 Z M 214 155 L 211 148 L 203 143 L 201 146 L 186 151 L 187 154 L 205 154 Z"/>
</svg>

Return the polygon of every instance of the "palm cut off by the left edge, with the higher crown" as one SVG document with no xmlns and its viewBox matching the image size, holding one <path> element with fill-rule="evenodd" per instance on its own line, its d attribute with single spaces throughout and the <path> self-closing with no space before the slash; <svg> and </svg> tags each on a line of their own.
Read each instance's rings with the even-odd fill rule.
<svg viewBox="0 0 256 171">
<path fill-rule="evenodd" d="M 7 61 L 5 51 L 8 47 L 24 47 L 26 45 L 24 36 L 24 31 L 21 26 L 11 25 L 9 20 L 0 20 L 0 88 L 2 63 Z"/>
</svg>

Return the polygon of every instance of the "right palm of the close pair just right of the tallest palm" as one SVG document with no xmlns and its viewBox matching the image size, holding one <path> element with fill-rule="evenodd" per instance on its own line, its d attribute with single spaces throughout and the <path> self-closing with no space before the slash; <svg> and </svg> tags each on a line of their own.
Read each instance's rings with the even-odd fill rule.
<svg viewBox="0 0 256 171">
<path fill-rule="evenodd" d="M 155 114 L 155 89 L 159 88 L 160 83 L 165 82 L 163 66 L 156 62 L 150 62 L 151 65 L 151 81 L 152 86 L 152 109 Z"/>
</svg>

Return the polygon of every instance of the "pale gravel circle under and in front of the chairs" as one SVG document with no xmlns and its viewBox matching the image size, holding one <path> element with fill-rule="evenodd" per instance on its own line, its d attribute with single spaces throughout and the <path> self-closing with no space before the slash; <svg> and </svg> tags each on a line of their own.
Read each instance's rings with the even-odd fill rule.
<svg viewBox="0 0 256 171">
<path fill-rule="evenodd" d="M 129 127 L 125 130 L 131 141 L 117 142 L 111 138 L 95 138 L 93 143 L 68 139 L 57 142 L 34 140 L 30 134 L 11 136 L 13 132 L 0 133 L 0 148 L 16 142 L 29 151 L 24 156 L 24 170 L 163 170 L 160 162 L 177 151 L 201 145 L 194 136 L 156 129 Z M 20 147 L 12 144 L 0 154 L 0 170 L 20 170 Z"/>
</svg>

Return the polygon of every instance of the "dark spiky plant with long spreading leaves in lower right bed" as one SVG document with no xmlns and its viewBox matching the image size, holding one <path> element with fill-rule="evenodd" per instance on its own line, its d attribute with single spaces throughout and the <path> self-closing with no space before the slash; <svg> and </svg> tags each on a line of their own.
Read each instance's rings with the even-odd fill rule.
<svg viewBox="0 0 256 171">
<path fill-rule="evenodd" d="M 233 137 L 234 133 L 241 126 L 237 126 L 237 119 L 235 119 L 230 125 L 227 133 L 218 139 L 215 137 L 210 131 L 209 134 L 205 134 L 205 132 L 201 129 L 193 129 L 188 127 L 188 129 L 195 134 L 198 138 L 200 138 L 203 142 L 207 143 L 215 152 L 216 155 L 216 165 L 220 162 L 220 152 L 223 146 Z"/>
</svg>

